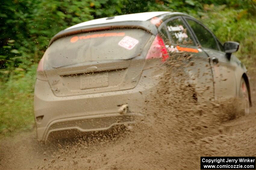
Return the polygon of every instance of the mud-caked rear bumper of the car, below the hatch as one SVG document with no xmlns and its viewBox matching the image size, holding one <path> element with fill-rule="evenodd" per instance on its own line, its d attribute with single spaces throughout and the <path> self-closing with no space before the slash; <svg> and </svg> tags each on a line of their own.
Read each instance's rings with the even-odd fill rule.
<svg viewBox="0 0 256 170">
<path fill-rule="evenodd" d="M 156 78 L 145 76 L 129 90 L 57 97 L 47 81 L 37 79 L 34 91 L 37 138 L 47 140 L 55 131 L 99 131 L 133 123 L 134 116 L 144 114 L 145 100 L 157 82 Z M 120 113 L 123 104 L 128 104 L 127 113 Z"/>
</svg>

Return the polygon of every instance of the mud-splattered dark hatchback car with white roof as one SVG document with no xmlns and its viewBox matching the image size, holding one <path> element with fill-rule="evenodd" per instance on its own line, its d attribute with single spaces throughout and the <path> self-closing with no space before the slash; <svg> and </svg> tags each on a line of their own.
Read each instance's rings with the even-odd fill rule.
<svg viewBox="0 0 256 170">
<path fill-rule="evenodd" d="M 189 43 L 188 43 L 189 42 Z M 107 17 L 56 34 L 39 62 L 34 92 L 38 140 L 57 131 L 100 131 L 134 122 L 170 52 L 192 53 L 197 100 L 240 97 L 251 105 L 245 66 L 202 23 L 178 12 Z M 206 66 L 210 67 L 206 67 Z M 200 71 L 198 71 L 200 68 Z M 205 74 L 208 73 L 208 74 Z M 214 81 L 208 81 L 213 79 Z M 224 81 L 222 81 L 224 79 Z"/>
</svg>

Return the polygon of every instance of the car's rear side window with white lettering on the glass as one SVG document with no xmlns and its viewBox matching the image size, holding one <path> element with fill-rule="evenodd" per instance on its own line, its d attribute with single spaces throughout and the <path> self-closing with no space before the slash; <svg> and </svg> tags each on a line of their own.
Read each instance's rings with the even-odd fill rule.
<svg viewBox="0 0 256 170">
<path fill-rule="evenodd" d="M 176 18 L 167 22 L 167 30 L 171 37 L 171 44 L 182 44 L 182 45 L 192 45 L 195 46 L 191 38 L 189 30 L 187 30 L 186 25 L 181 20 L 181 18 Z"/>
</svg>

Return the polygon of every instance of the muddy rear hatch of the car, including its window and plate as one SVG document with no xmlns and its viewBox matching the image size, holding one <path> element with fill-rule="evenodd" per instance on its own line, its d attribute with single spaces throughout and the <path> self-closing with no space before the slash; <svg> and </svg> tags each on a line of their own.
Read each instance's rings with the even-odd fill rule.
<svg viewBox="0 0 256 170">
<path fill-rule="evenodd" d="M 134 88 L 152 35 L 111 29 L 57 39 L 44 54 L 44 71 L 56 96 Z"/>
</svg>

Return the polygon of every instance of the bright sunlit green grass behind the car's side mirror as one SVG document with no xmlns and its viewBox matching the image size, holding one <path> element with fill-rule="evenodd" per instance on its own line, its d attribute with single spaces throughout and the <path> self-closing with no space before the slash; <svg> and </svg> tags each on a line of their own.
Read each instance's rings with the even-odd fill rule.
<svg viewBox="0 0 256 170">
<path fill-rule="evenodd" d="M 248 9 L 227 8 L 226 5 L 207 7 L 200 13 L 201 21 L 208 26 L 220 41 L 240 43 L 235 55 L 252 70 L 256 65 L 256 22 Z"/>
</svg>

